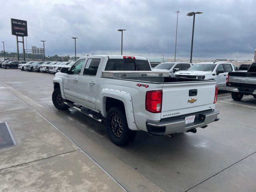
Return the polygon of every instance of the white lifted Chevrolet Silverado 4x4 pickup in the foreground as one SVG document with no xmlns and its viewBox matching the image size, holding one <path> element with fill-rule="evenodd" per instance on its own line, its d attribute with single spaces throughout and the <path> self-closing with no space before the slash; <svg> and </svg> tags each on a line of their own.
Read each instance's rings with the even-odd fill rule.
<svg viewBox="0 0 256 192">
<path fill-rule="evenodd" d="M 56 108 L 73 107 L 105 122 L 116 145 L 132 142 L 138 130 L 174 136 L 219 120 L 214 80 L 169 77 L 142 57 L 82 57 L 56 73 L 53 84 Z"/>
</svg>

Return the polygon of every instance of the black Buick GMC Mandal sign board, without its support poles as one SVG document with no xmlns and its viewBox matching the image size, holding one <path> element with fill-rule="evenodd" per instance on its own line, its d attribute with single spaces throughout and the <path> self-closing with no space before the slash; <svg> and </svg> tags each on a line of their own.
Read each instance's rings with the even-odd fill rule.
<svg viewBox="0 0 256 192">
<path fill-rule="evenodd" d="M 11 18 L 11 26 L 12 26 L 12 35 L 22 36 L 22 37 L 28 36 L 27 21 Z"/>
</svg>

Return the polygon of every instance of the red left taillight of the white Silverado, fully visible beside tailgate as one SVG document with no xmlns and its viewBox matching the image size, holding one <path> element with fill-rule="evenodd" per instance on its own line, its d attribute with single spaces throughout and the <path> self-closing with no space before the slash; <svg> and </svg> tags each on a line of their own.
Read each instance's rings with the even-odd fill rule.
<svg viewBox="0 0 256 192">
<path fill-rule="evenodd" d="M 162 110 L 162 90 L 146 92 L 146 110 L 152 113 L 160 113 Z"/>
</svg>

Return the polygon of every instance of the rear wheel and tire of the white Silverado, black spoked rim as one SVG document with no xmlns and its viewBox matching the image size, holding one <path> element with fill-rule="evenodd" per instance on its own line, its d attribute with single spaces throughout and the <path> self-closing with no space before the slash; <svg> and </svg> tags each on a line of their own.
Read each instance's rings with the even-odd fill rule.
<svg viewBox="0 0 256 192">
<path fill-rule="evenodd" d="M 137 131 L 128 128 L 124 112 L 117 107 L 112 107 L 108 110 L 106 128 L 110 140 L 118 146 L 132 142 L 137 134 Z"/>
</svg>

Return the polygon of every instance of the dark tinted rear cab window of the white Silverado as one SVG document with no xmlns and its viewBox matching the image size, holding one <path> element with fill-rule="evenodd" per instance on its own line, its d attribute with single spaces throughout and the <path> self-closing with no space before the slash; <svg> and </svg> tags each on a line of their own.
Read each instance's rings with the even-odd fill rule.
<svg viewBox="0 0 256 192">
<path fill-rule="evenodd" d="M 151 71 L 147 60 L 109 59 L 105 71 Z"/>
</svg>

